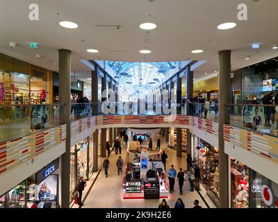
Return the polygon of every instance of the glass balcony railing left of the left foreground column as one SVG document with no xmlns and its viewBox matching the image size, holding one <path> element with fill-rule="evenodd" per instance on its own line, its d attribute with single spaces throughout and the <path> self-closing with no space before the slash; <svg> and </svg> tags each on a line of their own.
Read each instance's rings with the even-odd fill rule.
<svg viewBox="0 0 278 222">
<path fill-rule="evenodd" d="M 0 105 L 0 142 L 64 123 L 63 104 Z"/>
</svg>

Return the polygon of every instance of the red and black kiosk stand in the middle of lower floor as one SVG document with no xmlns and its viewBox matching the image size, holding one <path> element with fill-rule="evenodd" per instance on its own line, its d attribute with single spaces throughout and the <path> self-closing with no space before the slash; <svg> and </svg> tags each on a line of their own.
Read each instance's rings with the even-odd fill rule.
<svg viewBox="0 0 278 222">
<path fill-rule="evenodd" d="M 139 142 L 129 142 L 126 172 L 123 178 L 124 199 L 167 198 L 169 185 L 161 162 L 162 151 L 148 151 Z"/>
</svg>

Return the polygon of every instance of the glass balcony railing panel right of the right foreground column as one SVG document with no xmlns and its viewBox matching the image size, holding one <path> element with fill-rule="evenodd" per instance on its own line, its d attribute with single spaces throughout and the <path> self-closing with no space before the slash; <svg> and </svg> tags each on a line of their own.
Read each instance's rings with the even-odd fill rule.
<svg viewBox="0 0 278 222">
<path fill-rule="evenodd" d="M 263 104 L 229 104 L 226 105 L 226 123 L 278 137 L 277 107 Z"/>
</svg>

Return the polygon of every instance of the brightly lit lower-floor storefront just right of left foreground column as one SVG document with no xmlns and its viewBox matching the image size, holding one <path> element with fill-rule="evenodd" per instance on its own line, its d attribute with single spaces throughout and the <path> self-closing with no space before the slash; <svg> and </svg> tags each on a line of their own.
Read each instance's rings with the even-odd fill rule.
<svg viewBox="0 0 278 222">
<path fill-rule="evenodd" d="M 74 199 L 74 190 L 81 176 L 84 180 L 89 180 L 92 176 L 92 148 L 89 148 L 89 139 L 84 139 L 71 148 L 70 157 L 70 191 L 71 200 Z"/>
</svg>

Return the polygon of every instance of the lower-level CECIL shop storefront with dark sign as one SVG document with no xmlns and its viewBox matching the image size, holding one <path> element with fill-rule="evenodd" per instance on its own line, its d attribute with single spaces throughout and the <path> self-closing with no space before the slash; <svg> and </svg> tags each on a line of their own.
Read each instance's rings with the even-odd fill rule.
<svg viewBox="0 0 278 222">
<path fill-rule="evenodd" d="M 0 197 L 0 208 L 57 208 L 59 159 L 19 183 Z"/>
</svg>

